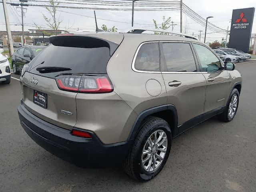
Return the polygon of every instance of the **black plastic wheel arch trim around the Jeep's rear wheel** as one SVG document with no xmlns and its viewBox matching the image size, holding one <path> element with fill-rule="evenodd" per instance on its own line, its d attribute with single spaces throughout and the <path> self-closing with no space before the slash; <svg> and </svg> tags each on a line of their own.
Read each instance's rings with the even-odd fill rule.
<svg viewBox="0 0 256 192">
<path fill-rule="evenodd" d="M 146 118 L 147 116 L 150 116 L 156 112 L 161 112 L 161 111 L 164 111 L 164 110 L 171 110 L 174 114 L 174 132 L 172 132 L 172 137 L 175 137 L 177 134 L 178 134 L 178 114 L 177 114 L 177 110 L 176 110 L 176 107 L 172 104 L 166 104 L 166 105 L 160 105 L 160 106 L 156 106 L 156 107 L 153 107 L 153 108 L 149 108 L 147 110 L 144 110 L 143 112 L 141 112 L 133 126 L 132 126 L 132 129 L 130 131 L 130 134 L 128 136 L 128 140 L 133 140 L 136 138 L 136 135 L 138 133 L 138 130 L 139 130 L 139 127 L 140 127 L 140 124 L 141 122 L 144 120 L 144 118 Z"/>
</svg>

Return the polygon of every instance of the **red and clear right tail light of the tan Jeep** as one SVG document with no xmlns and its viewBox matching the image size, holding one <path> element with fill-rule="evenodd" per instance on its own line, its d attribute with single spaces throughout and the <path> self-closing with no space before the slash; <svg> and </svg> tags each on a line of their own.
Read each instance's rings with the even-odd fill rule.
<svg viewBox="0 0 256 192">
<path fill-rule="evenodd" d="M 56 82 L 60 90 L 70 92 L 108 93 L 113 91 L 107 75 L 62 75 L 56 78 Z"/>
</svg>

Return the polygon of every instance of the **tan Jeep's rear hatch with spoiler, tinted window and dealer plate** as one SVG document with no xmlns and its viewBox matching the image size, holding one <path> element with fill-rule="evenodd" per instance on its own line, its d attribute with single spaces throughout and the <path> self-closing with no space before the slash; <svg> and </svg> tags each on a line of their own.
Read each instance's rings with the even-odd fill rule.
<svg viewBox="0 0 256 192">
<path fill-rule="evenodd" d="M 108 60 L 123 39 L 122 34 L 111 34 L 114 43 L 106 40 L 107 35 L 98 36 L 50 37 L 52 44 L 30 62 L 22 79 L 22 100 L 32 114 L 62 128 L 74 127 L 77 87 L 82 80 L 83 85 L 90 83 L 91 76 L 99 77 L 104 86 Z"/>
</svg>

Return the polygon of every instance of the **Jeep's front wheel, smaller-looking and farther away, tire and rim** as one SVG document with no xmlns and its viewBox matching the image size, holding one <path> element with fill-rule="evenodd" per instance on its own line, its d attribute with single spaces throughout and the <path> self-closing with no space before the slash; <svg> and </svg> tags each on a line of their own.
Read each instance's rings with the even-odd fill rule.
<svg viewBox="0 0 256 192">
<path fill-rule="evenodd" d="M 237 89 L 233 89 L 228 104 L 226 105 L 224 112 L 218 114 L 218 119 L 224 122 L 230 122 L 234 119 L 239 104 L 239 92 Z"/>
</svg>

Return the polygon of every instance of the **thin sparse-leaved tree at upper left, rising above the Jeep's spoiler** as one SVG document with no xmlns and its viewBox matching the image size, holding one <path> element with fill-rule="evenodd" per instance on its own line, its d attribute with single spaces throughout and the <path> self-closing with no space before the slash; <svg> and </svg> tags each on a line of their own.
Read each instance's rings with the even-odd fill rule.
<svg viewBox="0 0 256 192">
<path fill-rule="evenodd" d="M 60 26 L 60 23 L 62 22 L 62 20 L 60 20 L 60 16 L 57 19 L 57 8 L 56 6 L 58 6 L 60 4 L 60 2 L 58 2 L 57 0 L 49 0 L 49 7 L 45 7 L 47 12 L 50 14 L 50 18 L 48 18 L 45 14 L 42 13 L 44 20 L 46 21 L 46 25 L 49 26 L 52 30 L 56 31 L 57 34 L 57 30 Z M 40 26 L 36 26 L 38 29 L 42 29 L 42 27 Z"/>
</svg>

